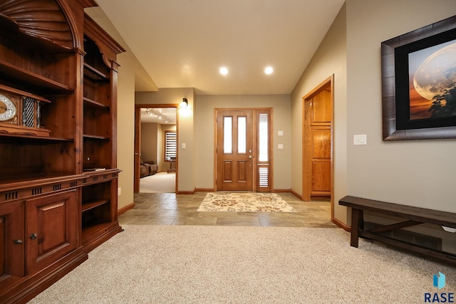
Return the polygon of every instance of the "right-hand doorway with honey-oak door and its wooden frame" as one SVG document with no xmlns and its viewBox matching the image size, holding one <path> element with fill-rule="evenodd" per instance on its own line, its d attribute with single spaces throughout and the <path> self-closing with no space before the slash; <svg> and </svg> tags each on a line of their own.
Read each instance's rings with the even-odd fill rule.
<svg viewBox="0 0 456 304">
<path fill-rule="evenodd" d="M 303 98 L 303 201 L 331 201 L 333 218 L 334 75 Z"/>
</svg>

